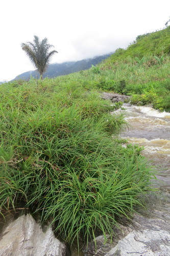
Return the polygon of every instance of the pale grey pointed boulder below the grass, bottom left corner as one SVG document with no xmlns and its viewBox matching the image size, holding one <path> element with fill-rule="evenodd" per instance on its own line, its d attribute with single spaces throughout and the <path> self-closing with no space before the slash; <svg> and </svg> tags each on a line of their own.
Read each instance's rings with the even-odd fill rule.
<svg viewBox="0 0 170 256">
<path fill-rule="evenodd" d="M 0 237 L 0 256 L 64 256 L 66 247 L 51 228 L 43 232 L 33 217 L 23 215 L 11 222 Z"/>
</svg>

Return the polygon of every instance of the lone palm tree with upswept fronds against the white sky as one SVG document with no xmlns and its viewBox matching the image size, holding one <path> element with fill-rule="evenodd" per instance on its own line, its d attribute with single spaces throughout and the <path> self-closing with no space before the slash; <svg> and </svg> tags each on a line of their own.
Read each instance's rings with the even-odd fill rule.
<svg viewBox="0 0 170 256">
<path fill-rule="evenodd" d="M 34 35 L 34 42 L 27 42 L 27 44 L 22 43 L 21 48 L 27 53 L 31 62 L 34 64 L 35 68 L 40 73 L 40 78 L 42 79 L 42 74 L 45 72 L 50 58 L 53 54 L 58 53 L 56 50 L 49 52 L 50 48 L 54 47 L 47 43 L 47 38 L 45 37 L 42 41 L 39 37 Z"/>
</svg>

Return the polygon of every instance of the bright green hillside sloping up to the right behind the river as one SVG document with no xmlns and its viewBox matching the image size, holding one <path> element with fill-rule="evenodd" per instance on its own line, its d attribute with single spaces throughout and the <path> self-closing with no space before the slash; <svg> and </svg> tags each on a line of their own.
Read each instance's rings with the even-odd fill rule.
<svg viewBox="0 0 170 256">
<path fill-rule="evenodd" d="M 170 111 L 170 26 L 140 35 L 100 65 L 70 74 L 84 88 L 131 96 L 131 103 Z"/>
</svg>

